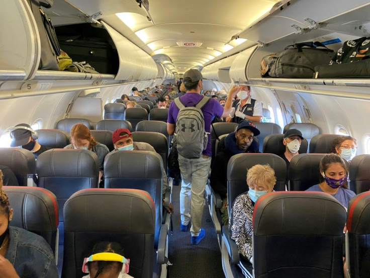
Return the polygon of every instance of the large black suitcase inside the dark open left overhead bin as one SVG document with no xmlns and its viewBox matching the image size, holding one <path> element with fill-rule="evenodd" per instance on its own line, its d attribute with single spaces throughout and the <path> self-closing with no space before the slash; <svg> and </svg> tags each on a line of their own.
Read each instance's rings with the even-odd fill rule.
<svg viewBox="0 0 370 278">
<path fill-rule="evenodd" d="M 89 23 L 55 28 L 60 47 L 74 62 L 89 64 L 100 74 L 117 74 L 118 52 L 108 31 Z"/>
</svg>

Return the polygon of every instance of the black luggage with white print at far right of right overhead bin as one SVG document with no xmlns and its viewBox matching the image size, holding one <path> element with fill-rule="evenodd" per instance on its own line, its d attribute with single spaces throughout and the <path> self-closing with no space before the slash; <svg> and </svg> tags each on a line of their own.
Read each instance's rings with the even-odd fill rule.
<svg viewBox="0 0 370 278">
<path fill-rule="evenodd" d="M 370 37 L 348 40 L 327 65 L 315 67 L 315 78 L 369 78 Z"/>
</svg>

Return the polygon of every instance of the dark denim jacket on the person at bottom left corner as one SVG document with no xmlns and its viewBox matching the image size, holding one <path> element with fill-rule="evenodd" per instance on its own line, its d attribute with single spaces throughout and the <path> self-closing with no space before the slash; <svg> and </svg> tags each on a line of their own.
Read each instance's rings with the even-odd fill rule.
<svg viewBox="0 0 370 278">
<path fill-rule="evenodd" d="M 53 252 L 41 236 L 10 226 L 9 239 L 5 257 L 21 278 L 59 277 Z"/>
</svg>

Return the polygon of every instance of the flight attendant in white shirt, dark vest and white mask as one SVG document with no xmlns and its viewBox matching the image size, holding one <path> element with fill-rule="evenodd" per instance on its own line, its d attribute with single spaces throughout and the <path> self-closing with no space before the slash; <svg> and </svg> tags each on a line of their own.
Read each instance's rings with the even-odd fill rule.
<svg viewBox="0 0 370 278">
<path fill-rule="evenodd" d="M 251 122 L 260 122 L 262 119 L 262 104 L 250 98 L 250 87 L 247 85 L 239 85 L 239 92 L 237 94 L 239 100 L 232 104 L 229 116 L 226 118 L 227 122 L 240 123 L 243 120 Z"/>
</svg>

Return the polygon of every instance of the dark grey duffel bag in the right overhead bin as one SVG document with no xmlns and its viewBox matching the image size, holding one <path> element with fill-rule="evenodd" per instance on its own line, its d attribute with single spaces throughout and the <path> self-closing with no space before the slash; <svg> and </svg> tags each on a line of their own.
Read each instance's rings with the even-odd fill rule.
<svg viewBox="0 0 370 278">
<path fill-rule="evenodd" d="M 288 45 L 283 52 L 264 56 L 261 76 L 273 78 L 312 78 L 315 66 L 328 64 L 334 51 L 320 42 Z"/>
</svg>

